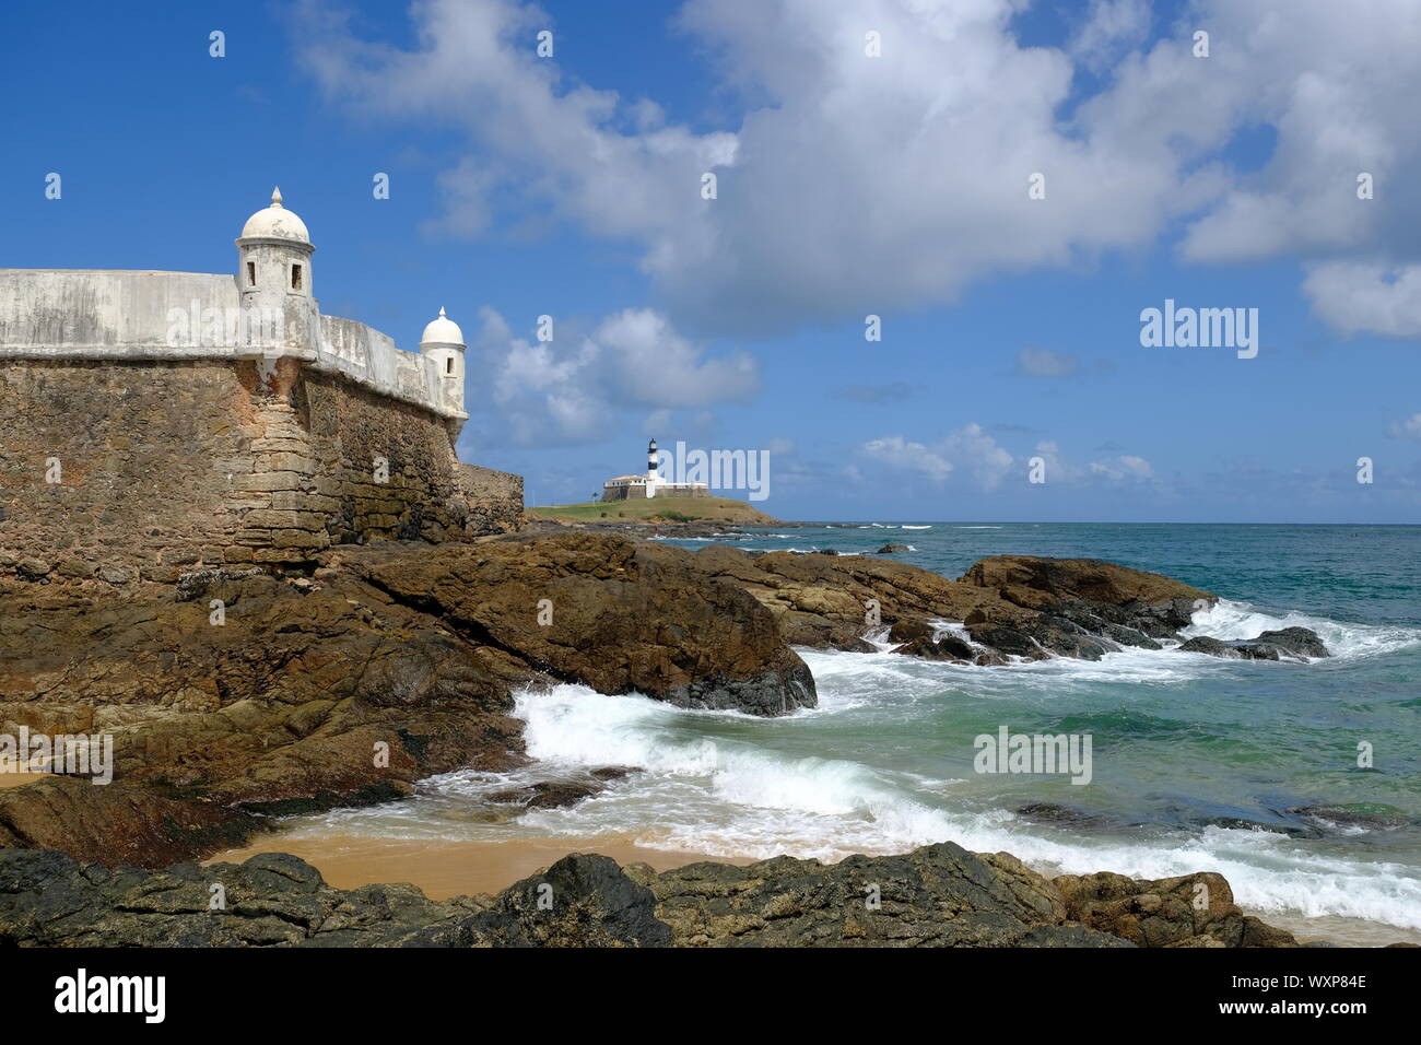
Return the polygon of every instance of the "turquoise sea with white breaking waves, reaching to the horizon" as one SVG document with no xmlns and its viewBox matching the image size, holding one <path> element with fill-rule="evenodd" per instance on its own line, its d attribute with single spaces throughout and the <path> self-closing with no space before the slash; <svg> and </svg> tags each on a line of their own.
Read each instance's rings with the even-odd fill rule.
<svg viewBox="0 0 1421 1045">
<path fill-rule="evenodd" d="M 1421 941 L 1421 527 L 863 523 L 722 539 L 860 554 L 891 540 L 912 549 L 897 557 L 949 577 L 999 553 L 1108 559 L 1219 594 L 1195 634 L 1302 624 L 1334 655 L 1128 650 L 980 668 L 801 650 L 820 707 L 783 719 L 564 685 L 519 701 L 539 766 L 449 773 L 411 800 L 291 826 L 431 840 L 608 836 L 826 860 L 951 839 L 1046 872 L 1216 870 L 1275 924 Z M 1003 725 L 1088 735 L 1090 783 L 975 772 L 973 739 Z M 1358 766 L 1358 745 L 1370 745 L 1371 768 Z M 607 765 L 645 772 L 571 809 L 489 816 L 489 792 L 550 768 Z M 1063 812 L 1017 812 L 1032 805 Z"/>
</svg>

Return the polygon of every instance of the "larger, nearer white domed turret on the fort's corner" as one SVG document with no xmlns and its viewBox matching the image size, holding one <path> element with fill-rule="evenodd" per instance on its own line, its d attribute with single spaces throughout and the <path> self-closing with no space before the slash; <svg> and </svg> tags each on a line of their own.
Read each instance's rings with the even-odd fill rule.
<svg viewBox="0 0 1421 1045">
<path fill-rule="evenodd" d="M 244 344 L 254 348 L 311 348 L 320 343 L 320 309 L 311 296 L 315 246 L 306 222 L 281 206 L 257 210 L 237 239 L 237 289 Z"/>
</svg>

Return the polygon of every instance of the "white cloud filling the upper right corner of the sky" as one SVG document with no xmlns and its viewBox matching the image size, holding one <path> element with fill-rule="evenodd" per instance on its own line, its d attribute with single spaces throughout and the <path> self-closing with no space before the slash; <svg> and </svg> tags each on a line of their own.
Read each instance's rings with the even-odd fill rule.
<svg viewBox="0 0 1421 1045">
<path fill-rule="evenodd" d="M 1256 172 L 1233 176 L 1223 198 L 1189 227 L 1189 260 L 1236 262 L 1336 250 L 1415 256 L 1421 206 L 1410 171 L 1421 162 L 1415 41 L 1421 6 L 1377 0 L 1366 17 L 1329 0 L 1204 4 L 1212 57 L 1141 63 L 1124 90 L 1185 92 L 1219 81 L 1228 105 L 1219 131 L 1272 127 L 1276 146 Z M 1215 87 L 1205 88 L 1209 92 Z M 1373 175 L 1376 199 L 1357 198 Z"/>
</svg>

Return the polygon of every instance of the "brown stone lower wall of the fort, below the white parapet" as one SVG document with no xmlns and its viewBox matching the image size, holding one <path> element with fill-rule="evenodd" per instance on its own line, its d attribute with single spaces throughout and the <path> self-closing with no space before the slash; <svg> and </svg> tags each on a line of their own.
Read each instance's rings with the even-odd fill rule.
<svg viewBox="0 0 1421 1045">
<path fill-rule="evenodd" d="M 408 353 L 405 353 L 408 355 Z M 172 582 L 517 529 L 458 419 L 303 358 L 0 358 L 0 572 Z"/>
</svg>

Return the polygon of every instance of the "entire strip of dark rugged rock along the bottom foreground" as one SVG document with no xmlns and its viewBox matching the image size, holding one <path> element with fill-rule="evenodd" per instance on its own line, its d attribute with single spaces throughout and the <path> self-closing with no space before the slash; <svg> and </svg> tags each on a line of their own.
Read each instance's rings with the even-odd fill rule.
<svg viewBox="0 0 1421 1045">
<path fill-rule="evenodd" d="M 215 889 L 219 887 L 219 889 Z M 1202 891 L 1199 889 L 1202 886 Z M 657 873 L 563 857 L 499 896 L 333 889 L 308 863 L 163 870 L 0 850 L 0 947 L 1290 947 L 1218 874 L 1049 880 L 944 842 L 824 866 L 776 857 Z"/>
</svg>

